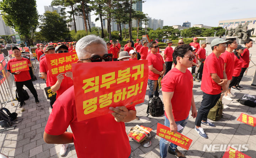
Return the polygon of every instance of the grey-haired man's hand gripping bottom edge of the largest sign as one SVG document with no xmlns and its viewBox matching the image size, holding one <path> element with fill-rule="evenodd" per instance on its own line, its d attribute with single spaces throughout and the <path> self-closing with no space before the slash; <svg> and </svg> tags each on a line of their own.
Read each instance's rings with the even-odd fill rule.
<svg viewBox="0 0 256 158">
<path fill-rule="evenodd" d="M 128 115 L 128 109 L 125 106 L 109 107 L 109 110 L 114 111 L 111 114 L 114 116 L 116 122 L 124 122 Z"/>
</svg>

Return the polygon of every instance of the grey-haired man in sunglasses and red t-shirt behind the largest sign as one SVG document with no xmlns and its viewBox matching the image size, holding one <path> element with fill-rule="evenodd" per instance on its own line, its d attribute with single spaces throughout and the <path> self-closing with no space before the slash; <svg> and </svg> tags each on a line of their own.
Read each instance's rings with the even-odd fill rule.
<svg viewBox="0 0 256 158">
<path fill-rule="evenodd" d="M 76 44 L 76 53 L 77 63 L 112 61 L 105 41 L 95 35 L 80 39 Z M 55 101 L 53 107 L 44 132 L 44 141 L 48 144 L 74 142 L 78 158 L 130 158 L 131 148 L 124 122 L 135 119 L 134 106 L 110 107 L 113 113 L 78 122 L 72 86 Z M 65 132 L 69 125 L 73 133 Z"/>
</svg>

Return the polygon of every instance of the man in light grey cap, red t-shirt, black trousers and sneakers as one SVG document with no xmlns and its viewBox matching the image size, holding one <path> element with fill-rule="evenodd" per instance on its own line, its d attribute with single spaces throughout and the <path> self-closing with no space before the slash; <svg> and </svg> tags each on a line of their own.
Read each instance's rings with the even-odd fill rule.
<svg viewBox="0 0 256 158">
<path fill-rule="evenodd" d="M 219 100 L 222 91 L 225 91 L 225 85 L 228 82 L 224 70 L 224 60 L 220 57 L 220 54 L 224 53 L 226 50 L 226 42 L 228 42 L 228 40 L 224 41 L 220 38 L 212 40 L 210 45 L 213 52 L 208 55 L 204 62 L 201 83 L 203 100 L 197 111 L 197 118 L 195 121 L 195 130 L 203 138 L 208 138 L 208 136 L 204 133 L 203 128 L 201 128 L 201 124 L 215 127 L 213 123 L 207 120 L 207 116 L 210 109 L 212 109 Z"/>
</svg>

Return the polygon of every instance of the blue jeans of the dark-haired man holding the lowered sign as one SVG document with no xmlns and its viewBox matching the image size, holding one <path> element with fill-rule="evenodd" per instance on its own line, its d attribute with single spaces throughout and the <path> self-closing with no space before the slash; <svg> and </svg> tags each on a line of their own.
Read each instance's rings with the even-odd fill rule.
<svg viewBox="0 0 256 158">
<path fill-rule="evenodd" d="M 186 124 L 187 124 L 187 121 L 188 121 L 188 117 L 186 119 L 184 119 L 184 120 L 181 120 L 181 121 L 175 121 L 175 123 L 176 123 L 176 125 L 180 124 L 184 128 L 186 126 Z M 165 116 L 165 126 L 170 127 L 169 119 L 167 119 L 166 116 Z M 182 128 L 182 130 L 180 130 L 178 132 L 182 133 L 183 128 Z M 161 156 L 161 158 L 166 158 L 167 157 L 167 147 L 168 147 L 168 144 L 169 144 L 169 141 L 167 141 L 167 140 L 165 140 L 163 138 L 160 139 L 159 147 L 160 147 L 160 156 Z M 177 145 L 171 143 L 169 148 L 170 148 L 170 150 L 175 151 L 176 148 L 177 148 Z"/>
</svg>

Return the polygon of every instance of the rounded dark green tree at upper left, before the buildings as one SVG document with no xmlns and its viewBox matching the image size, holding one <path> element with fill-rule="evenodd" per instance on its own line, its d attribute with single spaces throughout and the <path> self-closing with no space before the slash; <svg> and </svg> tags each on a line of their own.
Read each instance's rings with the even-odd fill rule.
<svg viewBox="0 0 256 158">
<path fill-rule="evenodd" d="M 66 21 L 56 11 L 45 12 L 40 20 L 42 22 L 39 27 L 40 33 L 46 41 L 57 41 L 69 35 Z"/>
</svg>

